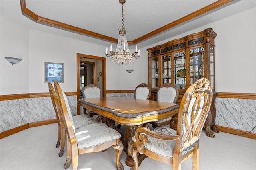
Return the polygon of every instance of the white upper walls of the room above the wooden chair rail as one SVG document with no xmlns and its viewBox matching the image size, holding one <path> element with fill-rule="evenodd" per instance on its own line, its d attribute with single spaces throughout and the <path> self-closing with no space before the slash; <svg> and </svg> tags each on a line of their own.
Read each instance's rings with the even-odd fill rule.
<svg viewBox="0 0 256 170">
<path fill-rule="evenodd" d="M 107 90 L 130 90 L 148 82 L 146 49 L 212 27 L 215 39 L 216 91 L 256 93 L 255 8 L 140 49 L 133 64 L 118 66 L 107 58 Z M 138 44 L 139 45 L 139 44 Z M 1 16 L 1 95 L 48 92 L 43 63 L 64 63 L 64 91 L 76 91 L 76 53 L 106 57 L 106 47 L 26 29 Z M 134 49 L 130 49 L 134 51 Z M 14 66 L 5 55 L 21 57 Z M 128 74 L 127 69 L 134 69 Z"/>
</svg>

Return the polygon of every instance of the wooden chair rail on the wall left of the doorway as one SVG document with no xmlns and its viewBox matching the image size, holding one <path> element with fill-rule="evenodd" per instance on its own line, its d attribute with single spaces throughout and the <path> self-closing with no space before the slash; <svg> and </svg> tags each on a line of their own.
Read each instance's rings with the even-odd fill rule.
<svg viewBox="0 0 256 170">
<path fill-rule="evenodd" d="M 76 92 L 65 92 L 67 96 L 76 96 Z M 16 100 L 16 99 L 24 99 L 24 98 L 42 98 L 42 97 L 50 97 L 49 93 L 25 93 L 25 94 L 8 94 L 1 95 L 0 101 L 4 100 Z"/>
</svg>

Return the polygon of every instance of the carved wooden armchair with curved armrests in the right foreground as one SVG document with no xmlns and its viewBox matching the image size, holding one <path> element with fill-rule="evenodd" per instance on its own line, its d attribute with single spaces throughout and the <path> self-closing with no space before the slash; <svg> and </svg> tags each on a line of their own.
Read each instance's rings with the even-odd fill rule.
<svg viewBox="0 0 256 170">
<path fill-rule="evenodd" d="M 192 156 L 193 170 L 199 169 L 199 138 L 212 103 L 212 86 L 206 78 L 192 84 L 185 92 L 178 113 L 177 131 L 170 127 L 150 130 L 138 127 L 131 147 L 134 167 L 138 170 L 137 153 L 172 164 L 181 169 L 181 162 Z"/>
</svg>

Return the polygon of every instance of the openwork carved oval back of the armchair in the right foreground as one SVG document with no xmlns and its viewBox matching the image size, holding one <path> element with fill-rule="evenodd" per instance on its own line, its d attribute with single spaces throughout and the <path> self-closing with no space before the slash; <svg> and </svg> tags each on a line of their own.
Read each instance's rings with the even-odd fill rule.
<svg viewBox="0 0 256 170">
<path fill-rule="evenodd" d="M 186 152 L 199 140 L 202 128 L 212 104 L 212 86 L 206 78 L 201 78 L 190 86 L 180 103 L 177 134 L 181 138 L 176 150 Z"/>
</svg>

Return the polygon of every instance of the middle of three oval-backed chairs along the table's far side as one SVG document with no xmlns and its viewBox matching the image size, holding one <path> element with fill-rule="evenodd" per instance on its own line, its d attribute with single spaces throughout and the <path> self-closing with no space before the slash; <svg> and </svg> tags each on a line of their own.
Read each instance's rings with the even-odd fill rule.
<svg viewBox="0 0 256 170">
<path fill-rule="evenodd" d="M 151 90 L 150 90 L 148 84 L 141 83 L 141 84 L 139 84 L 135 88 L 134 98 L 136 98 L 136 99 L 143 99 L 143 100 L 149 100 L 150 92 L 151 92 Z M 117 128 L 120 128 L 120 127 L 121 127 L 121 125 L 118 124 Z"/>
</svg>

